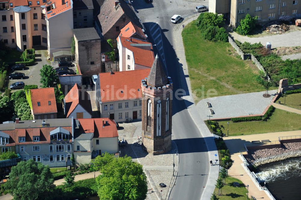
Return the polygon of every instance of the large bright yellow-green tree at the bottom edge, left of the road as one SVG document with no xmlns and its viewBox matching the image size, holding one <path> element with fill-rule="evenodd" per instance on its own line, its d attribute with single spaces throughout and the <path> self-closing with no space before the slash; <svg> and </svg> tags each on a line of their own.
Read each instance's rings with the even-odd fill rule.
<svg viewBox="0 0 301 200">
<path fill-rule="evenodd" d="M 100 200 L 143 200 L 147 193 L 146 175 L 142 165 L 131 157 L 113 158 L 101 167 L 96 178 Z"/>
</svg>

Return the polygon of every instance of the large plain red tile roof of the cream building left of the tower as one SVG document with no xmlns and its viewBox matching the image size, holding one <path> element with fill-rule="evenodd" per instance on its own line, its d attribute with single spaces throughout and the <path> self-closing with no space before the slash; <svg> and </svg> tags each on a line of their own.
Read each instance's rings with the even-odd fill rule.
<svg viewBox="0 0 301 200">
<path fill-rule="evenodd" d="M 139 69 L 113 74 L 100 73 L 101 102 L 141 98 L 141 80 L 146 78 L 150 71 L 151 69 Z"/>
</svg>

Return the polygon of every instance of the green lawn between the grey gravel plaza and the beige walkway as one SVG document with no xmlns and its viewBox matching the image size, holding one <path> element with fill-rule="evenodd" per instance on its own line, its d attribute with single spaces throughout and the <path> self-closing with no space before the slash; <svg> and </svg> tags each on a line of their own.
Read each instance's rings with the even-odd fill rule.
<svg viewBox="0 0 301 200">
<path fill-rule="evenodd" d="M 219 122 L 227 134 L 227 121 Z M 230 122 L 229 136 L 301 130 L 301 115 L 275 109 L 267 121 Z"/>
</svg>

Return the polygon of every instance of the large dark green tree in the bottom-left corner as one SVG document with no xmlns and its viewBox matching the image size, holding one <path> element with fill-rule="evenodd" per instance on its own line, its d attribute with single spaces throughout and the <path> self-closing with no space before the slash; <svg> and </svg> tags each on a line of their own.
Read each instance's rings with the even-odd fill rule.
<svg viewBox="0 0 301 200">
<path fill-rule="evenodd" d="M 49 166 L 32 159 L 11 168 L 5 189 L 18 200 L 44 199 L 54 189 Z"/>
</svg>

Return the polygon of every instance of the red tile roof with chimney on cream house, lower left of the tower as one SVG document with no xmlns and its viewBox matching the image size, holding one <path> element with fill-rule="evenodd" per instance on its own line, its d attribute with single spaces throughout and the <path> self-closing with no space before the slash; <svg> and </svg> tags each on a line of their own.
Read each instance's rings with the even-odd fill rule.
<svg viewBox="0 0 301 200">
<path fill-rule="evenodd" d="M 91 119 L 78 119 L 81 127 L 91 133 L 93 130 L 94 138 L 101 137 L 118 137 L 116 123 L 109 118 L 91 118 Z M 108 125 L 103 127 L 103 122 L 108 122 Z"/>
</svg>

